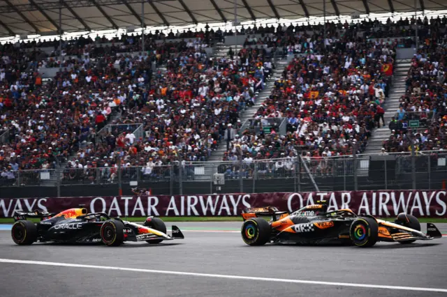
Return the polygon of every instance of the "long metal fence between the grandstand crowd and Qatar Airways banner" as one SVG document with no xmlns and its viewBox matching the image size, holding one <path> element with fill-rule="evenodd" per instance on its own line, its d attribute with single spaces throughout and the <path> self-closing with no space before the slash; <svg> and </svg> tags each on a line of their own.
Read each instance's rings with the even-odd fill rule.
<svg viewBox="0 0 447 297">
<path fill-rule="evenodd" d="M 447 182 L 447 151 L 288 157 L 225 162 L 174 162 L 140 167 L 65 168 L 1 172 L 0 186 L 61 187 L 138 184 L 157 194 L 329 190 L 439 189 Z M 223 183 L 218 182 L 223 176 Z M 119 185 L 119 187 L 117 187 Z M 87 191 L 87 190 L 86 190 Z M 88 192 L 85 195 L 89 195 Z"/>
</svg>

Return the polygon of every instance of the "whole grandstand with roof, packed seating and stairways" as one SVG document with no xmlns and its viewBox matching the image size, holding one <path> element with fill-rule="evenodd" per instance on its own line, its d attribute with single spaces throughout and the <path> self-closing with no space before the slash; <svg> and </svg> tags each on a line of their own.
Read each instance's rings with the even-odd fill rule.
<svg viewBox="0 0 447 297">
<path fill-rule="evenodd" d="M 443 6 L 205 2 L 2 3 L 0 185 L 441 183 Z"/>
</svg>

